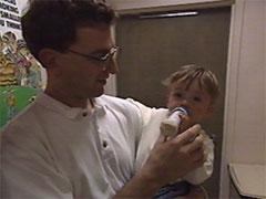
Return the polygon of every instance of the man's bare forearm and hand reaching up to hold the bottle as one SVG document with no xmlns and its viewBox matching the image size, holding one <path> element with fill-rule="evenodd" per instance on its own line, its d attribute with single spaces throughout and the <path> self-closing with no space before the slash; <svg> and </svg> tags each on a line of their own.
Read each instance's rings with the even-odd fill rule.
<svg viewBox="0 0 266 199">
<path fill-rule="evenodd" d="M 167 140 L 161 136 L 145 165 L 116 197 L 152 197 L 165 184 L 201 167 L 205 160 L 201 130 L 194 125 Z"/>
</svg>

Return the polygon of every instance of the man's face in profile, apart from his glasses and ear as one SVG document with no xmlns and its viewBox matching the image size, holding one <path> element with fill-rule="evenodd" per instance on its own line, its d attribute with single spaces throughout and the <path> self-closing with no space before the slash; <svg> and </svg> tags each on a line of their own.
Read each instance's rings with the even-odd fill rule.
<svg viewBox="0 0 266 199">
<path fill-rule="evenodd" d="M 76 42 L 59 60 L 57 81 L 63 90 L 76 98 L 96 97 L 103 94 L 110 73 L 117 72 L 115 61 L 96 61 L 84 55 L 101 56 L 114 45 L 110 27 L 79 28 Z M 78 52 L 76 53 L 73 53 Z M 80 54 L 79 54 L 80 53 Z"/>
</svg>

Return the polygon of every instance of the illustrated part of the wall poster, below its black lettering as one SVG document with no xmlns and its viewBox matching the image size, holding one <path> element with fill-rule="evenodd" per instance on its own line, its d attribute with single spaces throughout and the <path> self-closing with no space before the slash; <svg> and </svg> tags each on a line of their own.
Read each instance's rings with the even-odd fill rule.
<svg viewBox="0 0 266 199">
<path fill-rule="evenodd" d="M 11 31 L 0 34 L 0 129 L 28 106 L 45 83 L 41 64 L 24 40 Z"/>
</svg>

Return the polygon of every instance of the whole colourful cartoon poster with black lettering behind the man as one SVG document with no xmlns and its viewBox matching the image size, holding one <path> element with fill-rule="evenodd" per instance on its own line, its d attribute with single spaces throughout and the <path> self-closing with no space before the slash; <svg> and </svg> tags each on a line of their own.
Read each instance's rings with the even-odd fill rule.
<svg viewBox="0 0 266 199">
<path fill-rule="evenodd" d="M 21 36 L 21 6 L 0 0 L 0 128 L 45 86 L 44 70 Z"/>
</svg>

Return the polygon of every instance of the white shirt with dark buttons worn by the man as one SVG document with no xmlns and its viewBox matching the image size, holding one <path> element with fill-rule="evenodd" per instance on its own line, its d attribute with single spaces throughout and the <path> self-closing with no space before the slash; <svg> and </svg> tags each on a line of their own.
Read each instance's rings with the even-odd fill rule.
<svg viewBox="0 0 266 199">
<path fill-rule="evenodd" d="M 104 199 L 134 172 L 137 106 L 103 95 L 70 108 L 41 94 L 1 133 L 1 198 Z"/>
</svg>

